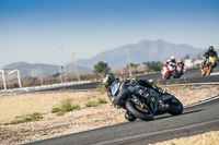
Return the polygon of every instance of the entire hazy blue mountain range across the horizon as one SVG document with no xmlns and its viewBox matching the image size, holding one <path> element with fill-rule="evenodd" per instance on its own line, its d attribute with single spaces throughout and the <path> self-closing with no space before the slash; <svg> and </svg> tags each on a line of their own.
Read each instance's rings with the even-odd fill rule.
<svg viewBox="0 0 219 145">
<path fill-rule="evenodd" d="M 93 67 L 99 62 L 103 61 L 114 70 L 117 68 L 125 68 L 127 65 L 127 49 L 129 62 L 142 63 L 147 61 L 165 61 L 171 56 L 176 59 L 183 59 L 186 55 L 197 56 L 203 53 L 204 49 L 194 48 L 189 45 L 174 45 L 164 40 L 141 40 L 138 44 L 124 45 L 111 50 L 103 51 L 93 58 L 83 59 L 77 61 L 77 70 L 79 73 L 92 73 Z M 73 62 L 69 62 L 65 65 L 65 72 L 72 73 Z M 51 76 L 59 72 L 58 65 L 34 63 L 30 64 L 26 62 L 15 62 L 5 65 L 3 69 L 19 69 L 21 77 L 26 76 Z"/>
</svg>

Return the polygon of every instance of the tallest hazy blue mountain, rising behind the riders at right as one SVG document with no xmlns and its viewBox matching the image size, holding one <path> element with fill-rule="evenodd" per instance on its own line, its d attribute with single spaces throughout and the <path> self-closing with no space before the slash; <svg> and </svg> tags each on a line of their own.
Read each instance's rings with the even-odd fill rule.
<svg viewBox="0 0 219 145">
<path fill-rule="evenodd" d="M 171 56 L 176 59 L 183 59 L 186 55 L 195 55 L 200 50 L 189 45 L 174 45 L 161 39 L 154 41 L 142 40 L 138 44 L 129 45 L 129 57 L 131 63 L 142 63 L 147 61 L 165 61 Z M 125 46 L 101 52 L 91 59 L 78 60 L 77 64 L 93 69 L 99 61 L 106 62 L 111 69 L 126 67 Z"/>
</svg>

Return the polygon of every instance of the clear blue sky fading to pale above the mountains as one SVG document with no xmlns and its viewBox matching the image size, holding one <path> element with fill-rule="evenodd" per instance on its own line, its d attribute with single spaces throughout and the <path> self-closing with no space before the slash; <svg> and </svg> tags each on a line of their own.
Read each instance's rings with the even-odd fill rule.
<svg viewBox="0 0 219 145">
<path fill-rule="evenodd" d="M 219 1 L 0 0 L 0 68 L 61 64 L 143 39 L 219 48 Z"/>
</svg>

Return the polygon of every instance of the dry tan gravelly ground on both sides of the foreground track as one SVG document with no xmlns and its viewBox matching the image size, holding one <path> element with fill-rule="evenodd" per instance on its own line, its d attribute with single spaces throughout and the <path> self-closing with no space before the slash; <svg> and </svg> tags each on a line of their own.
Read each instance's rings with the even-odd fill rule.
<svg viewBox="0 0 219 145">
<path fill-rule="evenodd" d="M 169 86 L 163 88 L 175 95 L 184 106 L 219 96 L 219 85 Z M 100 99 L 105 99 L 106 104 L 88 107 L 88 102 L 97 102 Z M 53 108 L 59 107 L 64 100 L 70 100 L 72 105 L 78 105 L 81 109 L 69 111 L 64 116 L 51 113 Z M 124 119 L 125 110 L 114 108 L 106 94 L 95 90 L 1 95 L 0 108 L 1 145 L 27 143 L 126 121 Z M 39 112 L 43 118 L 19 124 L 10 123 L 19 119 L 18 117 L 25 117 L 34 112 Z M 214 131 L 191 137 L 174 138 L 157 143 L 157 145 L 191 145 L 196 143 L 198 145 L 205 143 L 219 144 L 219 132 Z"/>
</svg>

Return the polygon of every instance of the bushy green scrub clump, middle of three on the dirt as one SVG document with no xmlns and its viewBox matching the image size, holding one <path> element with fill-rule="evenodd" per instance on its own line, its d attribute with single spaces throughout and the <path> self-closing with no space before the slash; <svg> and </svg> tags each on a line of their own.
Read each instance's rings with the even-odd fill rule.
<svg viewBox="0 0 219 145">
<path fill-rule="evenodd" d="M 51 112 L 57 113 L 57 116 L 64 116 L 66 112 L 80 110 L 80 109 L 81 109 L 80 106 L 78 105 L 73 106 L 71 104 L 71 99 L 66 99 L 61 101 L 61 105 L 59 108 L 58 107 L 53 108 Z"/>
</svg>

